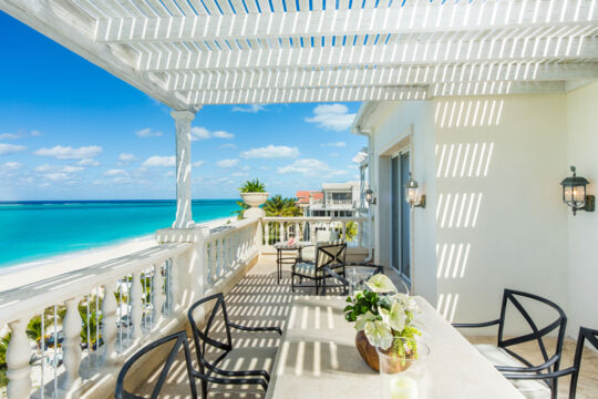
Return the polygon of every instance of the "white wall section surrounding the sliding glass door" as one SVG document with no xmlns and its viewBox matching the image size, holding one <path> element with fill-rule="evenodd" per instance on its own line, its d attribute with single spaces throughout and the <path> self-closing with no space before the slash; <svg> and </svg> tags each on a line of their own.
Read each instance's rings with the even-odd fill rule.
<svg viewBox="0 0 598 399">
<path fill-rule="evenodd" d="M 433 104 L 426 101 L 388 102 L 379 105 L 374 115 L 369 119 L 367 129 L 372 130 L 374 147 L 374 192 L 378 193 L 378 205 L 374 208 L 375 225 L 375 262 L 390 265 L 391 221 L 390 221 L 390 156 L 404 147 L 411 147 L 413 176 L 422 182 L 429 195 L 426 209 L 415 208 L 412 212 L 412 264 L 413 286 L 416 295 L 424 296 L 432 304 L 436 301 L 435 278 L 435 165 L 429 162 L 434 158 L 434 120 Z"/>
</svg>

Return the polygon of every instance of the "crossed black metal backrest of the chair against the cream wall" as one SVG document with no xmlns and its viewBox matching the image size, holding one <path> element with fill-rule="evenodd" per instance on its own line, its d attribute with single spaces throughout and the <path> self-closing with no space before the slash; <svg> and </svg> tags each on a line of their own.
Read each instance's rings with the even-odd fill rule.
<svg viewBox="0 0 598 399">
<path fill-rule="evenodd" d="M 557 318 L 547 324 L 544 327 L 538 327 L 537 320 L 534 320 L 532 316 L 529 315 L 529 309 L 526 309 L 526 307 L 522 304 L 520 299 L 525 299 L 526 301 L 533 303 L 534 307 L 544 306 L 548 309 L 556 310 L 556 314 L 558 314 Z M 509 337 L 508 339 L 505 339 L 505 320 L 507 317 L 507 305 L 513 305 L 515 309 L 518 311 L 518 315 L 525 319 L 528 327 L 530 328 L 532 332 L 528 334 L 520 334 L 518 336 Z M 567 327 L 567 316 L 565 315 L 565 311 L 553 303 L 551 300 L 548 300 L 546 298 L 539 297 L 534 294 L 517 291 L 513 289 L 505 289 L 503 295 L 503 305 L 501 308 L 501 318 L 498 324 L 498 347 L 504 348 L 507 350 L 512 356 L 517 358 L 518 360 L 523 361 L 527 366 L 533 366 L 530 361 L 523 358 L 520 355 L 516 354 L 509 347 L 528 342 L 528 341 L 537 341 L 539 350 L 542 352 L 542 356 L 544 358 L 544 361 L 554 360 L 553 364 L 553 371 L 558 370 L 558 366 L 560 362 L 560 355 L 563 351 L 563 341 L 565 339 L 565 328 Z M 546 335 L 553 332 L 554 330 L 557 330 L 557 342 L 555 346 L 554 354 L 549 354 L 546 349 L 546 342 L 545 337 Z"/>
</svg>

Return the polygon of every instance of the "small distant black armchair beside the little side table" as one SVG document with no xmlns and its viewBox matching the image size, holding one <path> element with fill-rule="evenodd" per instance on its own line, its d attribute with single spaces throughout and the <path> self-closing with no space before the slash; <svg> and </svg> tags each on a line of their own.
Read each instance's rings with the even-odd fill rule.
<svg viewBox="0 0 598 399">
<path fill-rule="evenodd" d="M 347 243 L 318 245 L 316 248 L 316 262 L 300 262 L 292 265 L 291 269 L 291 290 L 295 293 L 295 277 L 313 280 L 316 295 L 319 294 L 320 286 L 322 294 L 326 295 L 327 278 L 336 278 L 341 284 L 328 287 L 344 287 L 348 291 L 349 285 L 344 278 L 344 266 L 347 257 Z"/>
</svg>

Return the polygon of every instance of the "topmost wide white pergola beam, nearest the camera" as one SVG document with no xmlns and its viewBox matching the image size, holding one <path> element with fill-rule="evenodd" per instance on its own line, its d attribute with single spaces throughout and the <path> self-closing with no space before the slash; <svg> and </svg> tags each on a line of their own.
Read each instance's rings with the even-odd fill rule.
<svg viewBox="0 0 598 399">
<path fill-rule="evenodd" d="M 95 40 L 107 43 L 265 40 L 355 34 L 413 34 L 582 25 L 596 18 L 590 1 L 440 1 L 402 7 L 298 12 L 225 13 L 171 18 L 100 19 Z M 373 40 L 373 39 L 372 39 Z"/>
</svg>

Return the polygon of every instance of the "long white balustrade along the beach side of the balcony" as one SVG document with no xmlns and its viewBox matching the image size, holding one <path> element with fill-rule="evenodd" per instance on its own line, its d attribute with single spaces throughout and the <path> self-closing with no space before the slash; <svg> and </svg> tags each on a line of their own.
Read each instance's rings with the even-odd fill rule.
<svg viewBox="0 0 598 399">
<path fill-rule="evenodd" d="M 259 226 L 162 231 L 162 245 L 0 293 L 9 340 L 0 397 L 105 397 L 131 354 L 183 328 L 192 301 L 243 277 L 259 255 Z"/>
</svg>

